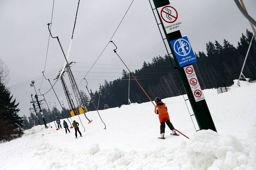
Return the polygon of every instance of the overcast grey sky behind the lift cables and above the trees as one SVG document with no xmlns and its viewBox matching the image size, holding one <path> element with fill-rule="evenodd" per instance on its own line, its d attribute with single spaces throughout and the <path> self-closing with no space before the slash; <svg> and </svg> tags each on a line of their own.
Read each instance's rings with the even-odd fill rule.
<svg viewBox="0 0 256 170">
<path fill-rule="evenodd" d="M 10 70 L 11 92 L 20 102 L 19 115 L 29 115 L 30 87 L 35 80 L 36 90 L 40 88 L 42 71 L 47 50 L 49 31 L 46 26 L 51 21 L 53 0 L 1 0 L 0 1 L 0 57 Z M 52 19 L 52 34 L 59 36 L 65 52 L 71 40 L 77 1 L 55 0 Z M 77 62 L 72 67 L 77 83 L 87 73 L 102 49 L 106 46 L 132 0 L 80 1 L 76 28 L 70 51 L 69 62 Z M 173 0 L 182 22 L 181 34 L 187 35 L 194 51 L 205 51 L 208 41 L 223 42 L 227 39 L 237 46 L 241 33 L 251 30 L 248 20 L 240 13 L 233 0 Z M 249 14 L 256 18 L 256 1 L 244 0 Z M 143 61 L 151 62 L 152 57 L 166 53 L 148 0 L 134 0 L 124 21 L 112 39 L 118 46 L 118 54 L 131 68 L 138 69 Z M 113 53 L 109 44 L 97 64 L 87 76 L 88 87 L 98 90 L 104 79 L 114 80 L 121 76 L 121 61 Z M 64 57 L 56 39 L 50 38 L 45 73 L 53 79 L 64 64 Z M 110 64 L 110 65 L 102 65 Z M 67 77 L 67 76 L 66 76 Z M 13 86 L 18 83 L 19 86 Z M 68 80 L 66 83 L 71 92 Z M 22 86 L 23 85 L 23 86 Z M 17 88 L 14 88 L 17 87 Z M 41 92 L 50 89 L 43 79 Z M 60 100 L 65 99 L 60 81 L 55 85 Z M 85 82 L 79 85 L 85 91 Z M 131 94 L 132 95 L 132 94 Z M 45 95 L 46 100 L 57 102 L 53 91 Z M 64 105 L 68 107 L 67 101 Z M 52 104 L 55 105 L 55 104 Z M 60 106 L 57 103 L 57 107 Z"/>
</svg>

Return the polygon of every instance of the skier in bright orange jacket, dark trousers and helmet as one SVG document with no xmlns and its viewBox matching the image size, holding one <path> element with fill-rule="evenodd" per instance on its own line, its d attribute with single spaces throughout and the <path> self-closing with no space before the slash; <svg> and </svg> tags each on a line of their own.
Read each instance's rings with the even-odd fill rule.
<svg viewBox="0 0 256 170">
<path fill-rule="evenodd" d="M 167 107 L 166 107 L 165 103 L 162 102 L 160 97 L 156 97 L 155 102 L 156 102 L 155 113 L 158 114 L 159 121 L 160 121 L 161 137 L 159 137 L 159 138 L 160 139 L 165 139 L 164 138 L 165 123 L 172 130 L 172 135 L 179 136 L 176 133 L 172 123 L 170 122 L 169 114 L 168 114 Z"/>
</svg>

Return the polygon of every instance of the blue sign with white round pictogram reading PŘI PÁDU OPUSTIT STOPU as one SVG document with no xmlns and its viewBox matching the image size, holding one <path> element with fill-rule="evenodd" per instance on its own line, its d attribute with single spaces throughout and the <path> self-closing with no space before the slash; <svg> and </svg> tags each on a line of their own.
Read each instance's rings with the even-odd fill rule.
<svg viewBox="0 0 256 170">
<path fill-rule="evenodd" d="M 170 43 L 180 67 L 196 63 L 196 56 L 190 46 L 187 36 L 170 41 Z"/>
</svg>

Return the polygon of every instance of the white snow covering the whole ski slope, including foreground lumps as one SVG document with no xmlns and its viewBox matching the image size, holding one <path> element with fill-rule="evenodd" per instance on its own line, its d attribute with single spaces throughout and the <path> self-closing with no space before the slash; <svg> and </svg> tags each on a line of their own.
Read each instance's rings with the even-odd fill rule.
<svg viewBox="0 0 256 170">
<path fill-rule="evenodd" d="M 66 134 L 64 128 L 56 130 L 53 122 L 52 129 L 26 130 L 21 138 L 0 144 L 0 169 L 255 170 L 256 83 L 240 85 L 221 94 L 216 89 L 203 91 L 218 133 L 196 132 L 185 101 L 178 96 L 163 102 L 175 129 L 190 139 L 169 135 L 167 126 L 167 139 L 157 139 L 160 123 L 154 106 L 133 103 L 100 110 L 107 129 L 95 111 L 86 114 L 93 120 L 90 124 L 84 115 L 80 115 L 83 125 L 78 116 L 72 117 L 83 135 L 77 139 L 74 129 Z"/>
</svg>

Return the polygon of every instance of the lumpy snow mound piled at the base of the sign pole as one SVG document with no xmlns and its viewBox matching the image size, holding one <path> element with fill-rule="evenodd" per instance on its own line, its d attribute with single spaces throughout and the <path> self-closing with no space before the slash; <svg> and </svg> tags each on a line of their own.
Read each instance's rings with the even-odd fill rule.
<svg viewBox="0 0 256 170">
<path fill-rule="evenodd" d="M 253 169 L 256 166 L 256 123 L 246 141 L 201 130 L 190 138 L 186 156 L 191 169 Z"/>
</svg>

